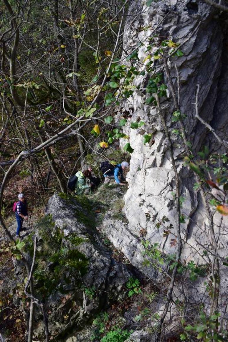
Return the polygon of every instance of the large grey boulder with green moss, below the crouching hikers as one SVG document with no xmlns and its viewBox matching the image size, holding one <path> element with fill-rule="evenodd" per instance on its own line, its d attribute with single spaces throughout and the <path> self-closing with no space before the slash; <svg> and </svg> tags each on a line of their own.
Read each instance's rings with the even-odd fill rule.
<svg viewBox="0 0 228 342">
<path fill-rule="evenodd" d="M 35 282 L 38 292 L 39 284 L 40 289 L 46 289 L 50 333 L 61 338 L 69 329 L 81 330 L 102 308 L 120 300 L 131 273 L 125 265 L 112 259 L 98 236 L 95 209 L 85 196 L 54 194 L 48 202 L 48 214 L 52 220 L 49 227 L 52 239 L 48 240 L 52 251 L 46 254 L 46 260 L 41 260 L 45 264 L 45 284 L 36 278 L 39 273 L 35 274 Z M 39 241 L 44 241 L 44 234 L 39 229 L 37 233 Z M 38 245 L 39 258 L 47 247 L 44 242 Z M 51 280 L 53 274 L 57 277 Z M 56 281 L 55 286 L 48 287 L 48 280 L 52 285 Z M 35 329 L 35 335 L 41 338 L 43 323 L 39 312 Z"/>
</svg>

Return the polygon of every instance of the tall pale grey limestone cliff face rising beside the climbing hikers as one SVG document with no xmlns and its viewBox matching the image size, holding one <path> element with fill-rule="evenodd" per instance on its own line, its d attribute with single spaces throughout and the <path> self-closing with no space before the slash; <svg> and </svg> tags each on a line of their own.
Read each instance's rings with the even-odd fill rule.
<svg viewBox="0 0 228 342">
<path fill-rule="evenodd" d="M 140 6 L 144 7 L 137 22 L 125 33 L 124 51 L 128 53 L 137 41 L 145 42 L 155 34 L 183 44 L 181 50 L 184 55 L 173 57 L 169 61 L 169 68 L 175 90 L 177 90 L 177 73 L 174 64 L 179 72 L 180 110 L 186 115 L 184 125 L 188 141 L 191 142 L 195 155 L 204 145 L 207 145 L 211 152 L 224 153 L 224 146 L 220 146 L 213 134 L 195 117 L 195 94 L 199 84 L 199 115 L 211 124 L 221 139 L 227 139 L 228 113 L 225 109 L 228 106 L 227 21 L 218 11 L 204 2 L 182 0 L 175 4 L 176 1 L 172 0 L 158 1 L 147 7 L 143 2 L 133 1 L 129 9 L 132 14 L 139 12 Z M 126 28 L 128 25 L 129 23 L 126 23 Z M 150 77 L 145 66 L 145 58 L 148 56 L 145 45 L 138 49 L 140 70 L 145 70 L 145 75 L 138 75 L 134 80 L 134 85 L 140 86 L 140 89 L 136 89 L 132 97 L 122 104 L 118 114 L 128 115 L 125 133 L 130 136 L 130 144 L 134 149 L 131 155 L 130 172 L 127 175 L 129 189 L 125 195 L 124 207 L 129 224 L 127 226 L 113 224 L 111 229 L 107 228 L 107 231 L 114 245 L 119 247 L 133 264 L 137 264 L 142 272 L 152 276 L 152 270 L 142 266 L 140 237 L 143 235 L 151 244 L 157 242 L 165 253 L 175 253 L 176 246 L 171 246 L 170 242 L 176 235 L 177 216 L 172 193 L 175 192 L 175 180 L 169 142 L 159 119 L 157 107 L 145 104 L 148 96 L 146 85 Z M 162 70 L 162 63 L 160 61 L 155 63 L 158 70 Z M 164 83 L 168 84 L 166 76 Z M 177 124 L 171 121 L 175 109 L 169 87 L 167 95 L 167 98 L 162 98 L 161 107 L 171 132 Z M 127 128 L 130 127 L 131 122 L 140 120 L 145 122 L 143 129 Z M 151 141 L 146 145 L 143 144 L 145 133 L 153 134 L 154 143 Z M 200 193 L 193 191 L 195 176 L 188 167 L 184 166 L 185 154 L 181 140 L 175 135 L 172 135 L 172 140 L 181 180 L 181 193 L 184 198 L 181 209 L 185 216 L 185 223 L 181 225 L 184 242 L 182 260 L 204 263 L 201 255 L 203 251 L 211 249 L 210 234 L 208 234 L 209 220 Z M 164 226 L 173 225 L 173 236 L 163 237 L 164 226 L 158 229 L 157 223 L 161 222 L 164 216 L 169 219 L 169 223 L 164 223 Z M 215 214 L 215 235 L 219 241 L 217 252 L 225 256 L 228 241 L 225 234 L 227 220 L 223 218 L 221 225 L 220 220 L 221 215 Z M 110 227 L 110 224 L 107 226 Z M 223 289 L 226 286 L 225 282 L 226 279 L 223 280 Z"/>
</svg>

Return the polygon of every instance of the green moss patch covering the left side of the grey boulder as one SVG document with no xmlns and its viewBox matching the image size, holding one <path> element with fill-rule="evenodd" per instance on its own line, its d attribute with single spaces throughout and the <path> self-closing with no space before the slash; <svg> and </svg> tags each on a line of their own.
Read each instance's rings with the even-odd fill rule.
<svg viewBox="0 0 228 342">
<path fill-rule="evenodd" d="M 57 289 L 61 291 L 69 279 L 80 284 L 81 277 L 87 272 L 88 259 L 77 249 L 85 240 L 76 233 L 69 234 L 65 239 L 62 230 L 52 222 L 51 215 L 44 216 L 37 228 L 39 240 L 33 278 L 36 293 L 43 299 Z M 24 250 L 32 258 L 32 236 L 29 235 L 24 242 Z"/>
</svg>

